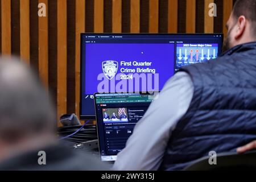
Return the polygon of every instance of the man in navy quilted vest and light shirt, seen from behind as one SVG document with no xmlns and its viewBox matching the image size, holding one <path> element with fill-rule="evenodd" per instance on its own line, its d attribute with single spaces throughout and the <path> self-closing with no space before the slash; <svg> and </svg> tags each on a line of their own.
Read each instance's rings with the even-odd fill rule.
<svg viewBox="0 0 256 182">
<path fill-rule="evenodd" d="M 114 169 L 180 170 L 210 151 L 236 152 L 256 139 L 255 13 L 256 0 L 236 1 L 226 24 L 227 51 L 167 81 Z"/>
</svg>

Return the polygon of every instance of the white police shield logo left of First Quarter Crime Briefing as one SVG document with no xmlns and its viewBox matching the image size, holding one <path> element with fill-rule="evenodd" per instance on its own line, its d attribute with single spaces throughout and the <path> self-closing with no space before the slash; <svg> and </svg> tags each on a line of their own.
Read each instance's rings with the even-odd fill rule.
<svg viewBox="0 0 256 182">
<path fill-rule="evenodd" d="M 117 61 L 103 61 L 102 71 L 104 75 L 111 80 L 117 73 L 118 62 Z"/>
</svg>

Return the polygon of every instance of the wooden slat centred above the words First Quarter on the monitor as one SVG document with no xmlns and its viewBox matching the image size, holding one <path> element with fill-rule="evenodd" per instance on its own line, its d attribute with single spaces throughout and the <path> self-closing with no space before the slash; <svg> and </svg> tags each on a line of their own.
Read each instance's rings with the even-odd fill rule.
<svg viewBox="0 0 256 182">
<path fill-rule="evenodd" d="M 139 33 L 139 0 L 131 0 L 131 33 Z"/>
</svg>

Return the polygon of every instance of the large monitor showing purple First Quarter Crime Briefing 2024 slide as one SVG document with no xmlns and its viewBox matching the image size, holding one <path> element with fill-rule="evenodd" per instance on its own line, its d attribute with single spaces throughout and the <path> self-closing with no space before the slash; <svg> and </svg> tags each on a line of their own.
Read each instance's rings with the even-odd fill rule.
<svg viewBox="0 0 256 182">
<path fill-rule="evenodd" d="M 96 92 L 161 90 L 175 72 L 221 53 L 222 34 L 81 34 L 80 118 Z"/>
</svg>

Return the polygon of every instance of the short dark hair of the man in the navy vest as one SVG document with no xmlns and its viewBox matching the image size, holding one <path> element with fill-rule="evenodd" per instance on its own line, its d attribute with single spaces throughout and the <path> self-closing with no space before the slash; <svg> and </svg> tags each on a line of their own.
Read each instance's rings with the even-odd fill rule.
<svg viewBox="0 0 256 182">
<path fill-rule="evenodd" d="M 237 0 L 233 7 L 233 16 L 238 18 L 241 15 L 252 23 L 256 36 L 256 0 Z"/>
</svg>

